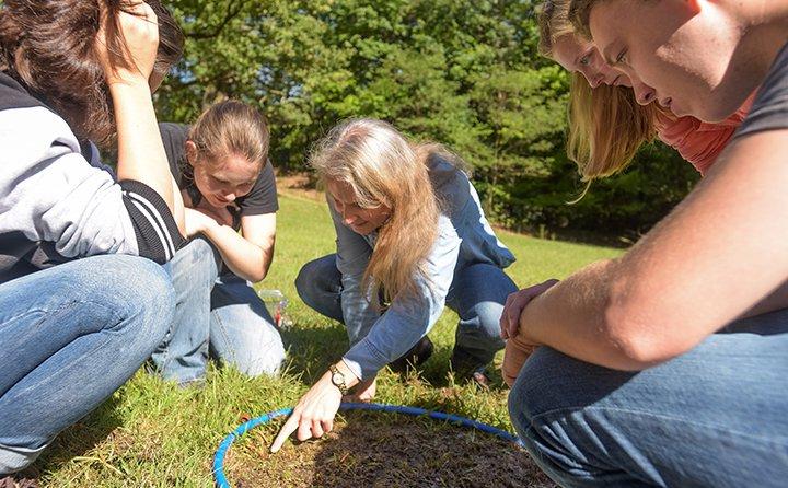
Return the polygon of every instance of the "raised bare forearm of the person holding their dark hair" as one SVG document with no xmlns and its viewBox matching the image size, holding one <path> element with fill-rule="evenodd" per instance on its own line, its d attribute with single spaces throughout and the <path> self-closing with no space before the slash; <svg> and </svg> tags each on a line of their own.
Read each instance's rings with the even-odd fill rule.
<svg viewBox="0 0 788 488">
<path fill-rule="evenodd" d="M 111 85 L 118 137 L 118 179 L 135 179 L 157 191 L 173 212 L 183 231 L 183 212 L 178 212 L 179 193 L 173 188 L 153 102 L 147 82 Z"/>
</svg>

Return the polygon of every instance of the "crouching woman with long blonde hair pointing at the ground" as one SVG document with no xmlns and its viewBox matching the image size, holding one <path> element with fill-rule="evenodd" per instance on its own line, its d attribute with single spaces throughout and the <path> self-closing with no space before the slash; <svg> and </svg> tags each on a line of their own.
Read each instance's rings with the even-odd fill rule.
<svg viewBox="0 0 788 488">
<path fill-rule="evenodd" d="M 311 164 L 327 189 L 337 252 L 308 263 L 297 288 L 344 322 L 350 349 L 301 398 L 274 452 L 297 428 L 300 440 L 329 431 L 348 388 L 371 398 L 378 371 L 414 348 L 444 304 L 460 315 L 455 374 L 486 382 L 484 369 L 503 347 L 500 314 L 517 290 L 503 272 L 514 256 L 459 163 L 374 119 L 340 124 L 317 144 Z"/>
</svg>

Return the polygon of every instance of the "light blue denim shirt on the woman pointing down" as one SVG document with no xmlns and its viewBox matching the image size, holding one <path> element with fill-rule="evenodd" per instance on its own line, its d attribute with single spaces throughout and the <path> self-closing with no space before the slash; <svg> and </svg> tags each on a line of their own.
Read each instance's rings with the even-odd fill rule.
<svg viewBox="0 0 788 488">
<path fill-rule="evenodd" d="M 375 311 L 362 287 L 376 233 L 357 234 L 343 224 L 333 204 L 328 204 L 337 232 L 341 307 L 351 346 L 343 359 L 362 380 L 373 377 L 432 328 L 443 311 L 456 270 L 478 263 L 506 268 L 514 262 L 484 217 L 476 189 L 465 173 L 438 158 L 431 159 L 429 167 L 443 208 L 438 239 L 425 266 L 429 279 L 419 275 L 416 280 L 419 293 L 394 297 L 382 314 Z"/>
</svg>

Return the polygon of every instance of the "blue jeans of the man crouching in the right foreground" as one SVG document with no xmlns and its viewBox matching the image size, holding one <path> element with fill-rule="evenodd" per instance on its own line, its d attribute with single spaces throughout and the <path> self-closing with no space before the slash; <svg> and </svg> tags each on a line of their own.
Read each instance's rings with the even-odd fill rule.
<svg viewBox="0 0 788 488">
<path fill-rule="evenodd" d="M 509 414 L 565 487 L 778 487 L 788 479 L 787 377 L 783 310 L 634 373 L 538 348 Z"/>
</svg>

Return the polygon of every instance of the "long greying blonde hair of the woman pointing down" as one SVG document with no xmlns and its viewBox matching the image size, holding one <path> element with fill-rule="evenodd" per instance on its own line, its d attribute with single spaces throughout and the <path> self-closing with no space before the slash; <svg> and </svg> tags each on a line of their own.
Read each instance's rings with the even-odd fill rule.
<svg viewBox="0 0 788 488">
<path fill-rule="evenodd" d="M 433 156 L 454 160 L 440 144 L 412 143 L 390 124 L 361 118 L 334 127 L 310 158 L 321 179 L 350 186 L 360 207 L 391 209 L 363 276 L 375 306 L 381 290 L 389 299 L 414 295 L 417 277 L 430 279 L 425 262 L 438 239 L 440 212 L 428 170 Z"/>
</svg>

